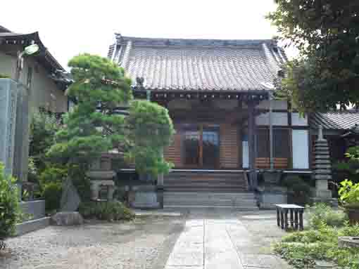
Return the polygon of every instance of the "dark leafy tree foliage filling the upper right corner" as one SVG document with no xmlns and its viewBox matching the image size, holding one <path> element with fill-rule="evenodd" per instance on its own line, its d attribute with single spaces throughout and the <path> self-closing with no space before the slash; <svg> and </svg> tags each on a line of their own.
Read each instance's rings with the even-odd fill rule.
<svg viewBox="0 0 359 269">
<path fill-rule="evenodd" d="M 279 84 L 303 111 L 359 104 L 359 1 L 275 0 L 267 18 L 300 57 L 286 65 Z"/>
</svg>

